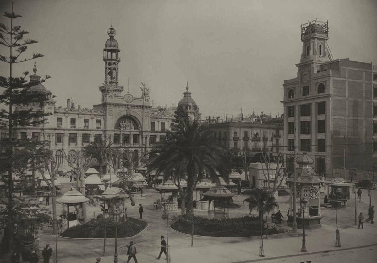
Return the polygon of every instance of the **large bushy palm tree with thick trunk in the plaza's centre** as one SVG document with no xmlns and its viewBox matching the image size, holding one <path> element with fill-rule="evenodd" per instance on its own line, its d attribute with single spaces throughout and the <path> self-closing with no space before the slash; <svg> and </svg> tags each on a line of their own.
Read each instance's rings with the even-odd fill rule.
<svg viewBox="0 0 377 263">
<path fill-rule="evenodd" d="M 193 216 L 193 190 L 204 176 L 204 171 L 219 183 L 219 176 L 229 181 L 227 150 L 213 139 L 213 134 L 198 121 L 190 121 L 184 109 L 175 112 L 172 131 L 167 131 L 166 141 L 154 145 L 149 153 L 149 171 L 164 175 L 164 181 L 187 180 L 186 214 Z M 216 174 L 219 173 L 219 175 Z M 179 187 L 181 188 L 181 187 Z M 184 202 L 182 202 L 184 203 Z"/>
</svg>

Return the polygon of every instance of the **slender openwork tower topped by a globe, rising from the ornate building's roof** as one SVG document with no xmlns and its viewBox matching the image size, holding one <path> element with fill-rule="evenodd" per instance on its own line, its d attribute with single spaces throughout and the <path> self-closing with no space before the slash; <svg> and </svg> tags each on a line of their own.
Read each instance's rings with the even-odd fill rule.
<svg viewBox="0 0 377 263">
<path fill-rule="evenodd" d="M 123 87 L 119 86 L 119 62 L 120 62 L 120 49 L 118 41 L 114 36 L 116 31 L 111 26 L 107 30 L 109 39 L 105 42 L 105 48 L 103 49 L 103 61 L 105 62 L 105 79 L 104 85 L 100 87 L 102 92 L 102 102 L 107 98 L 112 98 L 113 95 L 120 95 L 123 91 Z"/>
</svg>

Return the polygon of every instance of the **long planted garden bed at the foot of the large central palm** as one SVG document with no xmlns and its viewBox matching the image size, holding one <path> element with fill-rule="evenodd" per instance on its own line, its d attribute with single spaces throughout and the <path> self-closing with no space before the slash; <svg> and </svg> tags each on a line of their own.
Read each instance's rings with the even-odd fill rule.
<svg viewBox="0 0 377 263">
<path fill-rule="evenodd" d="M 191 234 L 192 219 L 187 216 L 175 216 L 171 227 L 179 232 Z M 194 235 L 215 237 L 251 237 L 261 235 L 261 221 L 256 216 L 240 218 L 208 219 L 195 216 Z M 266 222 L 263 222 L 263 234 L 266 234 Z M 268 234 L 285 233 L 287 230 L 268 222 Z"/>
</svg>

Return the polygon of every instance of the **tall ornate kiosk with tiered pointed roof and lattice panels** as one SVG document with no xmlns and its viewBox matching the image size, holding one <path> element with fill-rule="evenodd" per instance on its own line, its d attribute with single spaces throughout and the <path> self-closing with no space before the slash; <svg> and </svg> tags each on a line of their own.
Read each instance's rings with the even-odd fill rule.
<svg viewBox="0 0 377 263">
<path fill-rule="evenodd" d="M 296 169 L 296 196 L 293 196 L 293 176 L 287 178 L 287 186 L 290 187 L 290 199 L 288 209 L 288 225 L 293 225 L 293 202 L 296 202 L 298 207 L 296 212 L 297 228 L 302 229 L 305 224 L 306 229 L 321 227 L 321 212 L 320 212 L 320 187 L 324 180 L 319 177 L 317 173 L 311 168 L 313 160 L 303 153 L 296 163 L 299 167 Z M 305 218 L 303 218 L 303 211 L 300 208 L 300 201 L 305 198 L 308 205 L 305 209 Z M 297 205 L 298 204 L 298 205 Z"/>
</svg>

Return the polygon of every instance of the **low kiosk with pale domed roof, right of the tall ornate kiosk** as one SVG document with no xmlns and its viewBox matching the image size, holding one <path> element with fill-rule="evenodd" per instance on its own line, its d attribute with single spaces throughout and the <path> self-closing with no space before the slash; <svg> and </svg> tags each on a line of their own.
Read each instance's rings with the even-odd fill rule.
<svg viewBox="0 0 377 263">
<path fill-rule="evenodd" d="M 338 201 L 343 204 L 343 207 L 347 207 L 350 189 L 350 183 L 347 183 L 347 181 L 341 177 L 335 177 L 327 184 L 328 199 Z"/>
</svg>

